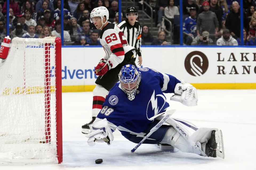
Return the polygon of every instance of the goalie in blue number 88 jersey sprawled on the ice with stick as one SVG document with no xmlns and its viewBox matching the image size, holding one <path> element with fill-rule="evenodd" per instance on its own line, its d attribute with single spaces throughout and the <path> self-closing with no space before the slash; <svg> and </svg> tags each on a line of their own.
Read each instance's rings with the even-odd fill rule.
<svg viewBox="0 0 256 170">
<path fill-rule="evenodd" d="M 90 125 L 91 133 L 86 135 L 90 146 L 95 142 L 110 145 L 116 129 L 139 145 L 151 129 L 158 127 L 144 143 L 168 144 L 183 152 L 224 159 L 221 130 L 197 128 L 191 122 L 172 117 L 158 126 L 161 114 L 170 110 L 163 93 L 174 93 L 171 100 L 195 106 L 198 101 L 195 87 L 172 75 L 133 65 L 123 66 L 118 76 L 119 82 L 109 91 L 96 120 Z"/>
</svg>

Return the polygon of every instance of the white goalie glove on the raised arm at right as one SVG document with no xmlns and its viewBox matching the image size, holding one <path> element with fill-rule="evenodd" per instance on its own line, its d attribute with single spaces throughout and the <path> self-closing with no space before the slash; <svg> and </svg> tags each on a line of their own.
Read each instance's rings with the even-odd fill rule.
<svg viewBox="0 0 256 170">
<path fill-rule="evenodd" d="M 196 106 L 198 97 L 197 89 L 184 80 L 177 83 L 174 88 L 175 95 L 171 96 L 170 100 L 179 101 L 186 106 Z"/>
</svg>

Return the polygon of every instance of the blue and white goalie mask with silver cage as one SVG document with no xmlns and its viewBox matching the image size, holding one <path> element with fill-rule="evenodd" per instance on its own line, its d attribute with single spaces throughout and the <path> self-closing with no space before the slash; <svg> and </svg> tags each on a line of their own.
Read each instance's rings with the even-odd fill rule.
<svg viewBox="0 0 256 170">
<path fill-rule="evenodd" d="M 122 90 L 127 94 L 128 99 L 133 100 L 141 82 L 141 73 L 134 65 L 127 64 L 122 67 L 118 78 Z"/>
</svg>

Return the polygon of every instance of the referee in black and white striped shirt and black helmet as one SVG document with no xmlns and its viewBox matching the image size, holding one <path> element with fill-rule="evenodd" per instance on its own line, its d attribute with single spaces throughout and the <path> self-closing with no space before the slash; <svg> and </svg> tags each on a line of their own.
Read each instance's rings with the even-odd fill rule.
<svg viewBox="0 0 256 170">
<path fill-rule="evenodd" d="M 138 49 L 138 63 L 139 66 L 142 64 L 141 57 L 141 24 L 136 20 L 138 18 L 138 10 L 134 6 L 130 6 L 126 10 L 126 20 L 118 24 L 125 37 L 127 38 L 128 44 Z M 133 63 L 135 66 L 135 62 Z"/>
</svg>

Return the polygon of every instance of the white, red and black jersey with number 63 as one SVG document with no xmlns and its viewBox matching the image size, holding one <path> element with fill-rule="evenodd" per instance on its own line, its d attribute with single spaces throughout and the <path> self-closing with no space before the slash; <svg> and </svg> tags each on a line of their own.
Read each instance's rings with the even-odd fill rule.
<svg viewBox="0 0 256 170">
<path fill-rule="evenodd" d="M 106 52 L 104 59 L 107 60 L 109 58 L 109 61 L 113 64 L 112 68 L 123 61 L 125 58 L 124 48 L 127 48 L 129 45 L 123 32 L 116 24 L 108 23 L 103 27 L 99 41 Z"/>
</svg>

